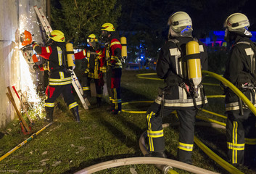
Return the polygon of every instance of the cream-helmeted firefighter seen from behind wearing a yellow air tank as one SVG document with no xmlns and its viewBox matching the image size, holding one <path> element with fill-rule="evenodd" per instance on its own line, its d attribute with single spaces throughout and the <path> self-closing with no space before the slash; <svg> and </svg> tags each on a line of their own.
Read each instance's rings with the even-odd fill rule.
<svg viewBox="0 0 256 174">
<path fill-rule="evenodd" d="M 189 80 L 191 71 L 207 70 L 207 50 L 204 44 L 192 37 L 192 21 L 186 12 L 176 12 L 168 19 L 170 25 L 168 41 L 160 49 L 157 59 L 157 76 L 165 80 L 166 87 L 146 112 L 149 154 L 151 157 L 167 157 L 162 129 L 162 117 L 169 116 L 173 110 L 178 114 L 179 139 L 178 160 L 191 164 L 194 143 L 194 125 L 198 109 L 207 103 L 202 82 L 195 86 Z M 188 65 L 193 57 L 186 55 L 186 45 L 197 43 L 198 53 L 194 54 L 201 62 L 196 66 Z M 186 60 L 187 59 L 187 60 Z M 194 58 L 193 58 L 194 59 Z M 189 67 L 189 68 L 188 68 Z"/>
</svg>

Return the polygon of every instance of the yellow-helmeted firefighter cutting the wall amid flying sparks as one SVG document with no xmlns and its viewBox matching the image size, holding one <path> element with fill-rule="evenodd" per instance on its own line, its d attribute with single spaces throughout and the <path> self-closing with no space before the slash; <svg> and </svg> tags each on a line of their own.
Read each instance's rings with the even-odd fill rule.
<svg viewBox="0 0 256 174">
<path fill-rule="evenodd" d="M 49 83 L 46 88 L 46 120 L 53 122 L 54 101 L 62 94 L 68 108 L 73 113 L 73 117 L 80 122 L 78 114 L 78 103 L 75 101 L 72 86 L 71 75 L 67 70 L 65 56 L 65 36 L 60 30 L 53 30 L 49 36 L 46 47 L 33 43 L 33 49 L 44 59 L 48 60 L 47 70 L 49 70 Z M 39 66 L 44 69 L 44 66 Z"/>
</svg>

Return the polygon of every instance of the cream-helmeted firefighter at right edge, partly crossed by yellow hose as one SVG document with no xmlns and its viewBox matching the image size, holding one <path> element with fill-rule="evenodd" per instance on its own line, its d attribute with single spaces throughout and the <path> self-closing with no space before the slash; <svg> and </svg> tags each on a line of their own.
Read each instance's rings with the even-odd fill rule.
<svg viewBox="0 0 256 174">
<path fill-rule="evenodd" d="M 225 41 L 233 44 L 226 62 L 224 78 L 234 84 L 255 104 L 255 51 L 256 46 L 249 38 L 249 20 L 246 15 L 234 13 L 224 22 Z M 228 160 L 232 165 L 255 164 L 256 130 L 255 115 L 245 106 L 230 88 L 226 92 L 226 138 Z"/>
</svg>

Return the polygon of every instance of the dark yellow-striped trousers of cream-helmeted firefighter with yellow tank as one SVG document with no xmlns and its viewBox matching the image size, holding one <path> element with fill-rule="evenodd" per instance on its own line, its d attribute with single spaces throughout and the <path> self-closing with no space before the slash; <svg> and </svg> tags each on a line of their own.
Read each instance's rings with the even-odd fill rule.
<svg viewBox="0 0 256 174">
<path fill-rule="evenodd" d="M 164 107 L 162 117 L 170 117 L 174 109 Z M 176 109 L 179 125 L 178 160 L 191 164 L 194 144 L 194 125 L 197 109 Z M 153 103 L 146 112 L 147 136 L 150 152 L 165 151 L 165 139 L 162 129 L 161 105 Z"/>
</svg>

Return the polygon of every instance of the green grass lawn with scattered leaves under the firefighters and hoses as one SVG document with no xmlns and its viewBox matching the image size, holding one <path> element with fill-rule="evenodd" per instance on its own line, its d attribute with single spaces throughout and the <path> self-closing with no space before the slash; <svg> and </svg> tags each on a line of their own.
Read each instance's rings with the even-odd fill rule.
<svg viewBox="0 0 256 174">
<path fill-rule="evenodd" d="M 157 96 L 160 80 L 137 78 L 140 73 L 154 72 L 146 70 L 123 71 L 122 99 L 128 101 L 153 101 Z M 154 76 L 154 75 L 153 75 Z M 205 78 L 205 83 L 218 83 L 212 78 Z M 222 94 L 218 86 L 205 86 L 207 95 Z M 77 98 L 78 99 L 78 98 Z M 122 112 L 120 115 L 109 115 L 106 111 L 107 97 L 101 108 L 84 110 L 80 105 L 80 123 L 73 121 L 71 112 L 59 97 L 59 104 L 54 109 L 54 124 L 42 131 L 36 138 L 6 157 L 0 162 L 0 173 L 75 173 L 85 167 L 96 165 L 112 159 L 142 157 L 139 149 L 139 138 L 146 130 L 146 115 Z M 205 107 L 212 112 L 224 115 L 223 99 L 208 99 Z M 149 103 L 125 104 L 123 109 L 146 110 Z M 225 119 L 205 112 L 198 115 L 210 117 L 225 123 Z M 41 115 L 44 116 L 44 115 Z M 174 115 L 165 117 L 163 122 L 176 121 Z M 37 121 L 33 132 L 40 130 L 46 123 Z M 176 159 L 178 143 L 178 127 L 164 129 L 165 144 L 168 157 Z M 213 152 L 226 160 L 226 137 L 224 130 L 197 127 L 196 135 Z M 0 157 L 30 135 L 23 135 L 18 120 L 13 120 L 0 134 Z M 217 173 L 228 173 L 220 165 L 194 145 L 193 165 L 212 170 Z M 244 173 L 256 173 L 246 167 L 239 168 Z M 136 171 L 136 172 L 135 172 Z M 188 173 L 176 169 L 178 173 Z M 162 173 L 154 165 L 126 165 L 110 168 L 98 173 Z"/>
</svg>

